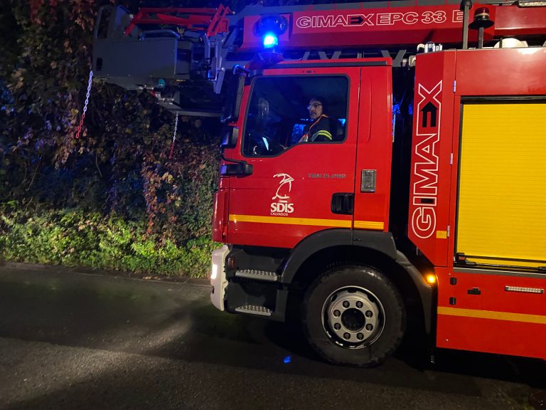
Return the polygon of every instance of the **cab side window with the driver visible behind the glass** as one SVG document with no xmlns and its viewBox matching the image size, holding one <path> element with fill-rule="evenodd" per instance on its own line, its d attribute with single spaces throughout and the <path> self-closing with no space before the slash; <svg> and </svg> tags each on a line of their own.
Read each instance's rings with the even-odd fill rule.
<svg viewBox="0 0 546 410">
<path fill-rule="evenodd" d="M 343 142 L 347 107 L 348 78 L 342 75 L 257 78 L 243 154 L 271 157 L 295 144 Z"/>
</svg>

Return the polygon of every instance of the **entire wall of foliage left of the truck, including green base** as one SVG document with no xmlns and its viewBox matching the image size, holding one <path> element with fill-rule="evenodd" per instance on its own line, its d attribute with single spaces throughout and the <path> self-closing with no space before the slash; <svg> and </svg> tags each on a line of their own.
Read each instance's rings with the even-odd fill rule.
<svg viewBox="0 0 546 410">
<path fill-rule="evenodd" d="M 174 116 L 148 93 L 95 81 L 75 138 L 107 2 L 9 3 L 0 13 L 0 258 L 206 272 L 195 249 L 210 248 L 218 126 L 181 118 L 170 157 Z"/>
</svg>

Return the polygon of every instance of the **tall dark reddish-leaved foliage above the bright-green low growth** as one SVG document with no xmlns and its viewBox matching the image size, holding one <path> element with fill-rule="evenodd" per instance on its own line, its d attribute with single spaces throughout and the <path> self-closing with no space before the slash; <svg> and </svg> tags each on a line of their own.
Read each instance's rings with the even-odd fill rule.
<svg viewBox="0 0 546 410">
<path fill-rule="evenodd" d="M 0 201 L 144 218 L 146 233 L 177 246 L 209 233 L 218 120 L 198 132 L 181 118 L 170 156 L 173 114 L 149 93 L 94 82 L 76 139 L 93 24 L 108 1 L 10 3 L 0 15 Z"/>
</svg>

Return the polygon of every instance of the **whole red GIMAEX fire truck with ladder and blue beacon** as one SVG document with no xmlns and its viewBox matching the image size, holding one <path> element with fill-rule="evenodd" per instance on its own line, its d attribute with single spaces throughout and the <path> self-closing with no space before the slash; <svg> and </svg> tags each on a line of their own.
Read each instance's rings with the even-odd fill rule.
<svg viewBox="0 0 546 410">
<path fill-rule="evenodd" d="M 338 364 L 419 322 L 435 347 L 546 359 L 545 41 L 536 1 L 119 7 L 93 70 L 225 122 L 219 310 L 295 315 Z"/>
</svg>

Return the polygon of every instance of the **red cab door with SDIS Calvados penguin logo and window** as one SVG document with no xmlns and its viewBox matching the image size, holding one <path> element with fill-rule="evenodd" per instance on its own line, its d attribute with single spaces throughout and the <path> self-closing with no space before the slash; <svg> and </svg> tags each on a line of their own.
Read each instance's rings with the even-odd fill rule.
<svg viewBox="0 0 546 410">
<path fill-rule="evenodd" d="M 361 68 L 282 67 L 245 90 L 239 141 L 225 152 L 251 169 L 230 177 L 228 243 L 292 248 L 312 233 L 353 226 Z M 324 102 L 332 140 L 299 142 L 311 125 L 311 98 Z"/>
</svg>

